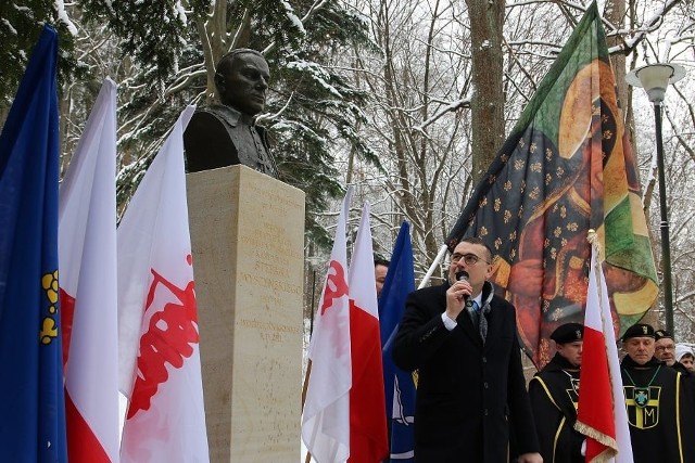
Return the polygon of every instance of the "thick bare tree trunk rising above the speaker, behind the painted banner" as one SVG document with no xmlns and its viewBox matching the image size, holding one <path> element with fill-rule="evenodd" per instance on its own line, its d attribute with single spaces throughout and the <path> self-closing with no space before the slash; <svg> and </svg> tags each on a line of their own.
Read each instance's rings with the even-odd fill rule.
<svg viewBox="0 0 695 463">
<path fill-rule="evenodd" d="M 502 87 L 504 0 L 466 0 L 470 17 L 472 176 L 478 183 L 505 139 Z"/>
</svg>

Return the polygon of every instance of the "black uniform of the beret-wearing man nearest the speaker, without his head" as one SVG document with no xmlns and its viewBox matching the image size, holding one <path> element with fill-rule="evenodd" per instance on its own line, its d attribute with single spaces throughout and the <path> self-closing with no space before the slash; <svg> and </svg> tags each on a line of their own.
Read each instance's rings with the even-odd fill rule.
<svg viewBox="0 0 695 463">
<path fill-rule="evenodd" d="M 584 463 L 584 436 L 573 427 L 578 393 L 579 369 L 559 353 L 529 383 L 543 463 Z"/>
</svg>

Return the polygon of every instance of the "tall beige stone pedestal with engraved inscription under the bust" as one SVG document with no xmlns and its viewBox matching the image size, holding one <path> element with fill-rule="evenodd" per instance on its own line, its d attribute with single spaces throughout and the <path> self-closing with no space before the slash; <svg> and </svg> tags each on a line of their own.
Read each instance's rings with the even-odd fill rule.
<svg viewBox="0 0 695 463">
<path fill-rule="evenodd" d="M 187 183 L 211 462 L 298 461 L 304 193 L 242 165 Z"/>
</svg>

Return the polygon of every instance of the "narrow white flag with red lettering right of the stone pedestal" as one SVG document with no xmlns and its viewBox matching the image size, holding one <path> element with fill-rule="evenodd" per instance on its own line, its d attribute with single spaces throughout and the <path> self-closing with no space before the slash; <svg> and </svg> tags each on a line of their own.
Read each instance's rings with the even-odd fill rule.
<svg viewBox="0 0 695 463">
<path fill-rule="evenodd" d="M 308 348 L 312 370 L 302 412 L 302 440 L 318 463 L 343 463 L 350 456 L 352 366 L 345 222 L 351 197 L 349 187 Z"/>
</svg>

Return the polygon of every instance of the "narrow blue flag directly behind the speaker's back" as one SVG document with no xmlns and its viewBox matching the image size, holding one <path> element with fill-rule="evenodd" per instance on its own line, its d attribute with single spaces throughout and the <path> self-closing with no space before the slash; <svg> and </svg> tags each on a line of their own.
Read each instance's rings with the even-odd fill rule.
<svg viewBox="0 0 695 463">
<path fill-rule="evenodd" d="M 405 299 L 415 291 L 410 224 L 401 226 L 393 246 L 391 262 L 379 298 L 379 325 L 383 362 L 383 385 L 387 397 L 387 416 L 391 436 L 390 462 L 413 462 L 415 415 L 415 383 L 413 374 L 399 369 L 391 360 L 391 345 L 405 311 Z"/>
</svg>

